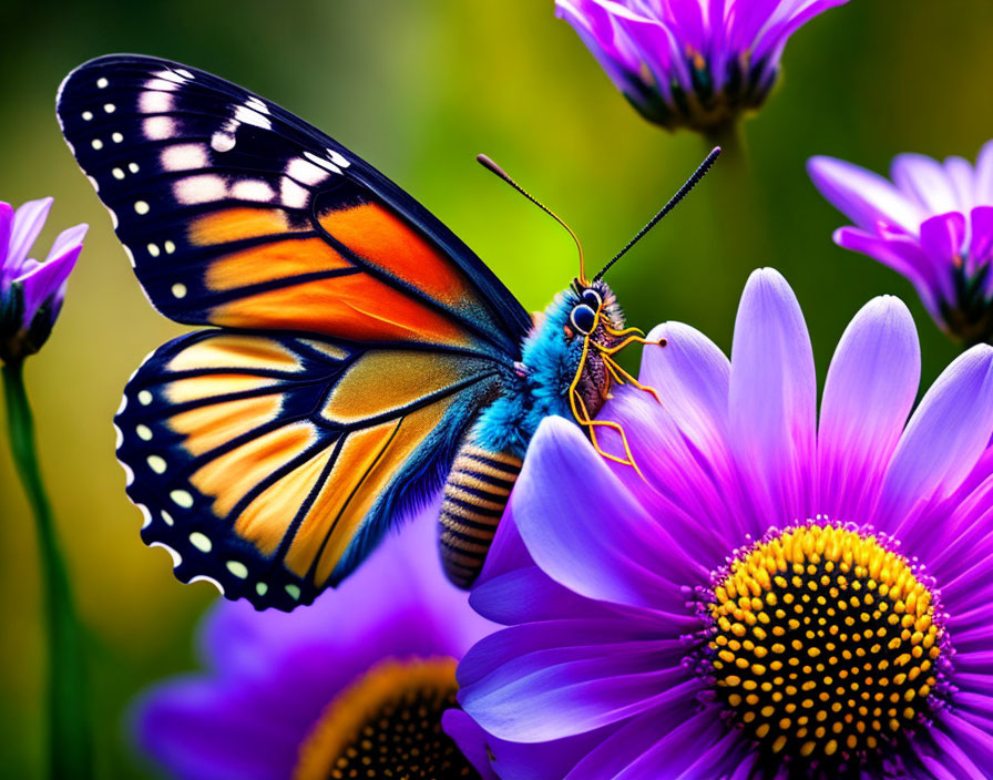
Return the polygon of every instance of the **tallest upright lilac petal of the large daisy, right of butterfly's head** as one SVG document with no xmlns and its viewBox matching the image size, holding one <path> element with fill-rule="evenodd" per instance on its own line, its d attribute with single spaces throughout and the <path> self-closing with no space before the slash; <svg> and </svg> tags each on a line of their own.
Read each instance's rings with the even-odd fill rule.
<svg viewBox="0 0 993 780">
<path fill-rule="evenodd" d="M 735 322 L 730 430 L 768 523 L 810 514 L 816 408 L 813 352 L 797 298 L 778 271 L 754 271 Z"/>
</svg>

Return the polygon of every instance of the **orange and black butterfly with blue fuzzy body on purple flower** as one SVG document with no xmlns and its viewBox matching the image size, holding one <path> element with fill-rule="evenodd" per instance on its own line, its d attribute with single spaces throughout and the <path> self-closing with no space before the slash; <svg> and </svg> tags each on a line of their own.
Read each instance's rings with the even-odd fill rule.
<svg viewBox="0 0 993 780">
<path fill-rule="evenodd" d="M 145 359 L 114 419 L 142 538 L 181 581 L 308 604 L 444 485 L 441 560 L 468 587 L 542 419 L 636 468 L 626 440 L 600 447 L 618 427 L 595 415 L 637 383 L 613 356 L 644 333 L 582 248 L 532 319 L 400 187 L 240 86 L 108 55 L 65 78 L 57 111 L 151 304 L 206 326 Z"/>
</svg>

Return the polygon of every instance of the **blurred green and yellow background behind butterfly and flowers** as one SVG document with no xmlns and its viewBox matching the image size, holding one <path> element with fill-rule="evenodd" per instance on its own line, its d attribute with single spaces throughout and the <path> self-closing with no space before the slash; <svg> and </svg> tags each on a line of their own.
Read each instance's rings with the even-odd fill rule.
<svg viewBox="0 0 993 780">
<path fill-rule="evenodd" d="M 952 9 L 953 7 L 953 9 Z M 28 365 L 41 459 L 91 632 L 101 777 L 149 777 L 129 747 L 131 697 L 195 666 L 192 630 L 215 597 L 173 579 L 139 540 L 111 419 L 141 359 L 182 329 L 145 301 L 110 218 L 62 143 L 55 89 L 74 65 L 132 51 L 239 82 L 395 178 L 472 246 L 529 309 L 575 274 L 571 242 L 474 162 L 487 152 L 610 257 L 706 151 L 649 126 L 614 91 L 551 0 L 20 2 L 3 11 L 0 199 L 53 195 L 57 232 L 91 225 L 51 341 Z M 830 242 L 843 218 L 809 183 L 825 153 L 876 170 L 901 151 L 974 158 L 993 135 L 993 3 L 852 0 L 790 41 L 784 78 L 745 127 L 747 171 L 718 164 L 611 273 L 634 324 L 689 322 L 730 347 L 748 273 L 792 284 L 821 378 L 846 324 L 892 292 L 921 331 L 924 386 L 956 353 L 909 283 Z M 41 766 L 43 645 L 35 545 L 0 448 L 0 773 Z"/>
</svg>

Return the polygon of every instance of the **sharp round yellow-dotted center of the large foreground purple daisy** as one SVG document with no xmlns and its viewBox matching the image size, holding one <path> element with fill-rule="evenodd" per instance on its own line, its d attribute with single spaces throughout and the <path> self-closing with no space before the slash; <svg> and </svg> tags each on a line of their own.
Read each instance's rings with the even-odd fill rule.
<svg viewBox="0 0 993 780">
<path fill-rule="evenodd" d="M 717 579 L 718 697 L 772 755 L 848 761 L 929 711 L 936 598 L 866 533 L 808 524 L 743 552 Z"/>
</svg>

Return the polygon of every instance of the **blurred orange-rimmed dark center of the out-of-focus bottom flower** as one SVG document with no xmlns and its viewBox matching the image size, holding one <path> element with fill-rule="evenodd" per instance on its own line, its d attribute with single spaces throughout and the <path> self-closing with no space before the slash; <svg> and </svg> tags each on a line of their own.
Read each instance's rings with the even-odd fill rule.
<svg viewBox="0 0 993 780">
<path fill-rule="evenodd" d="M 372 667 L 321 714 L 300 746 L 295 780 L 478 779 L 441 729 L 457 690 L 453 658 Z"/>
</svg>

